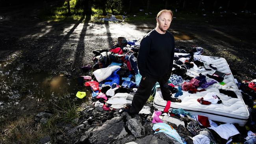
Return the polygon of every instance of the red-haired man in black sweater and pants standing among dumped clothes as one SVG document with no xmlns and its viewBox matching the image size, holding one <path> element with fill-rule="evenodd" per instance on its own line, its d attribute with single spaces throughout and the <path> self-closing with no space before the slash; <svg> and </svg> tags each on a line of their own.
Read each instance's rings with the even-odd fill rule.
<svg viewBox="0 0 256 144">
<path fill-rule="evenodd" d="M 156 28 L 143 37 L 137 63 L 142 79 L 134 94 L 130 113 L 138 114 L 147 102 L 151 90 L 158 81 L 164 100 L 181 102 L 171 97 L 168 79 L 173 68 L 174 37 L 167 31 L 173 19 L 171 10 L 163 9 L 156 17 Z"/>
</svg>

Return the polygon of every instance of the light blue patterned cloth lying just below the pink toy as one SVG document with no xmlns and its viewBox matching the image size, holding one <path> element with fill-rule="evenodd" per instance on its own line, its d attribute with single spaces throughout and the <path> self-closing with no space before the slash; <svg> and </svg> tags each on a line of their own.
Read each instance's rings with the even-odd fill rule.
<svg viewBox="0 0 256 144">
<path fill-rule="evenodd" d="M 159 129 L 159 131 L 155 131 L 156 129 Z M 156 123 L 153 125 L 153 130 L 155 131 L 155 134 L 159 132 L 166 133 L 167 135 L 175 138 L 181 144 L 184 144 L 182 142 L 180 135 L 177 133 L 177 131 L 173 127 L 169 126 L 168 124 Z"/>
</svg>

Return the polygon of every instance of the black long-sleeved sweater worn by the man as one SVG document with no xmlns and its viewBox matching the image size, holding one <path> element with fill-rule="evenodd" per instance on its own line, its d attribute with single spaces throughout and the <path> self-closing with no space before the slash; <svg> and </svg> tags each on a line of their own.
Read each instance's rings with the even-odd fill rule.
<svg viewBox="0 0 256 144">
<path fill-rule="evenodd" d="M 139 73 L 144 77 L 160 78 L 173 68 L 174 37 L 166 31 L 150 31 L 140 43 L 137 63 Z"/>
</svg>

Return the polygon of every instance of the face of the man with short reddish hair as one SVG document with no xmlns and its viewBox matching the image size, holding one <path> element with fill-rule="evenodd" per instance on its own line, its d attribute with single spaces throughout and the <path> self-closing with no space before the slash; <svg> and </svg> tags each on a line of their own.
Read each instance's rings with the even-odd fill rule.
<svg viewBox="0 0 256 144">
<path fill-rule="evenodd" d="M 156 18 L 156 21 L 158 22 L 158 28 L 165 32 L 169 29 L 171 21 L 172 21 L 172 15 L 171 13 L 163 12 L 161 15 Z"/>
</svg>

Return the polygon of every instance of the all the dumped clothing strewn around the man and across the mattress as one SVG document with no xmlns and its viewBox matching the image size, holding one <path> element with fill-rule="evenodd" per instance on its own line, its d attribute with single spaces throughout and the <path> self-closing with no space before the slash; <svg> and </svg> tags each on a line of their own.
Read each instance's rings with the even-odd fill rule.
<svg viewBox="0 0 256 144">
<path fill-rule="evenodd" d="M 212 64 L 204 65 L 198 57 L 195 55 L 201 55 L 203 48 L 191 48 L 184 50 L 185 47 L 175 48 L 175 52 L 186 53 L 186 55 L 176 55 L 174 57 L 174 70 L 169 79 L 169 89 L 172 93 L 175 93 L 175 97 L 182 96 L 184 91 L 188 91 L 191 94 L 204 91 L 210 85 L 219 82 L 220 85 L 225 85 L 223 82 L 223 73 L 218 72 L 216 67 Z M 91 100 L 93 105 L 101 111 L 113 111 L 129 107 L 132 104 L 134 93 L 139 86 L 141 75 L 137 68 L 137 55 L 139 52 L 139 42 L 136 40 L 127 41 L 127 44 L 119 46 L 117 43 L 113 44 L 110 50 L 95 50 L 95 58 L 93 59 L 94 65 L 87 65 L 81 67 L 83 72 L 87 72 L 91 68 L 96 69 L 93 72 L 93 76 L 80 76 L 79 82 L 85 87 L 91 87 Z M 192 57 L 192 58 L 191 58 Z M 186 59 L 180 61 L 180 59 Z M 198 75 L 193 78 L 186 74 L 187 70 L 194 68 L 197 71 L 203 70 L 216 70 L 213 75 L 206 75 L 211 79 L 206 79 L 204 75 Z M 214 79 L 214 80 L 213 80 Z M 174 86 L 177 86 L 175 88 Z M 245 81 L 245 83 L 239 83 L 240 89 L 243 90 L 243 95 L 251 100 L 255 100 L 255 81 Z M 200 88 L 198 90 L 197 88 Z M 159 84 L 156 83 L 152 89 L 152 95 L 160 90 Z M 223 94 L 228 94 L 232 98 L 237 98 L 236 94 L 228 90 L 220 90 Z M 77 97 L 83 98 L 86 95 L 85 92 L 78 92 Z M 208 92 L 204 97 L 197 100 L 202 105 L 210 105 L 211 103 L 222 103 L 220 98 L 214 92 Z M 252 106 L 255 103 L 252 103 Z M 154 109 L 144 106 L 139 114 L 145 114 L 150 116 Z M 253 122 L 252 120 L 250 122 Z M 255 136 L 255 131 L 249 131 L 244 127 L 239 127 L 233 124 L 223 124 L 214 122 L 208 117 L 203 115 L 192 116 L 189 112 L 183 109 L 164 109 L 163 114 L 161 111 L 154 111 L 152 115 L 152 123 L 154 126 L 152 129 L 155 133 L 163 132 L 169 137 L 174 138 L 181 144 L 186 143 L 186 140 L 179 135 L 177 131 L 180 130 L 180 126 L 186 127 L 193 137 L 193 143 L 197 144 L 210 144 L 210 143 L 223 143 L 223 142 L 244 142 L 245 140 L 251 140 Z M 176 125 L 175 125 L 176 124 Z M 174 129 L 176 127 L 176 130 Z M 255 129 L 254 129 L 255 130 Z M 248 137 L 242 135 L 242 131 L 245 134 L 248 131 Z M 246 131 L 246 132 L 245 132 Z M 251 135 L 252 134 L 252 135 Z M 233 138 L 233 140 L 232 140 Z M 242 140 L 241 140 L 242 139 Z"/>
</svg>

